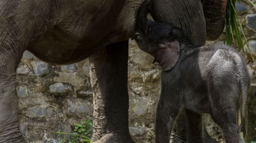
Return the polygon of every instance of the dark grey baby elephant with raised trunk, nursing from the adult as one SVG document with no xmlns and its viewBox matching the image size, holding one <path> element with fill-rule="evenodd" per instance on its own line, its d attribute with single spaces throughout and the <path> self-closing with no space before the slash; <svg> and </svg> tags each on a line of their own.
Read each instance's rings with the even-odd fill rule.
<svg viewBox="0 0 256 143">
<path fill-rule="evenodd" d="M 156 142 L 169 143 L 181 107 L 209 113 L 227 143 L 243 143 L 245 105 L 250 84 L 240 54 L 226 45 L 193 45 L 177 27 L 147 20 L 149 1 L 140 7 L 133 39 L 162 67 L 162 91 L 156 113 Z M 238 109 L 241 102 L 241 125 Z"/>
</svg>

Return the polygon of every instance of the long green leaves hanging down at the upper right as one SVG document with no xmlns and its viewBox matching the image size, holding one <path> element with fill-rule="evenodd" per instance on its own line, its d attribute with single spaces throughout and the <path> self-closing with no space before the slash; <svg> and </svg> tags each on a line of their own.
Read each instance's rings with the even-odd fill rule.
<svg viewBox="0 0 256 143">
<path fill-rule="evenodd" d="M 227 1 L 226 25 L 225 25 L 226 39 L 225 39 L 225 42 L 227 42 L 227 45 L 232 45 L 232 43 L 235 42 L 234 41 L 234 35 L 235 35 L 238 47 L 241 48 L 243 50 L 243 52 L 244 52 L 243 40 L 242 40 L 242 36 L 243 36 L 243 38 L 245 40 L 245 43 L 247 45 L 249 54 L 250 54 L 252 60 L 254 61 L 254 57 L 251 54 L 251 50 L 249 48 L 249 44 L 248 44 L 247 38 L 245 37 L 245 34 L 243 32 L 243 27 L 242 27 L 241 22 L 240 22 L 240 20 L 238 18 L 238 14 L 236 13 L 236 5 L 235 5 L 235 3 L 237 1 L 240 2 L 240 0 L 228 0 Z M 255 4 L 253 4 L 251 2 L 251 0 L 247 0 L 247 1 L 250 4 L 252 4 L 253 6 L 255 6 Z M 240 32 L 240 30 L 241 30 L 241 32 Z"/>
</svg>

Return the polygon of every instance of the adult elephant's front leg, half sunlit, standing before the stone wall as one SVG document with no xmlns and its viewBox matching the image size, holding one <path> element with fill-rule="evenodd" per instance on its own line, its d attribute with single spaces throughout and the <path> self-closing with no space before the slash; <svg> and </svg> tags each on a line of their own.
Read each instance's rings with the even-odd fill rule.
<svg viewBox="0 0 256 143">
<path fill-rule="evenodd" d="M 129 134 L 128 41 L 89 57 L 93 88 L 93 143 L 134 143 Z"/>
</svg>

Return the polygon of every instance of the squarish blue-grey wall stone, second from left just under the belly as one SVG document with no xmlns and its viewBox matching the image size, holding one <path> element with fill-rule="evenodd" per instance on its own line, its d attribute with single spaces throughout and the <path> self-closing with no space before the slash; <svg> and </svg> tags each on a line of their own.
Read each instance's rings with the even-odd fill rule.
<svg viewBox="0 0 256 143">
<path fill-rule="evenodd" d="M 33 61 L 33 70 L 36 76 L 49 74 L 48 64 L 42 61 Z"/>
</svg>

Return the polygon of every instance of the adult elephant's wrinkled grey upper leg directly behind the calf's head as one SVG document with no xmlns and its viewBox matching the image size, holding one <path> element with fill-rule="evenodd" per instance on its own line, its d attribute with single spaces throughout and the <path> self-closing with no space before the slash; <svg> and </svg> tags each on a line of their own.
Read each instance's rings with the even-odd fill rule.
<svg viewBox="0 0 256 143">
<path fill-rule="evenodd" d="M 205 45 L 206 30 L 201 0 L 152 0 L 149 13 L 156 22 L 181 28 L 194 45 Z"/>
</svg>

